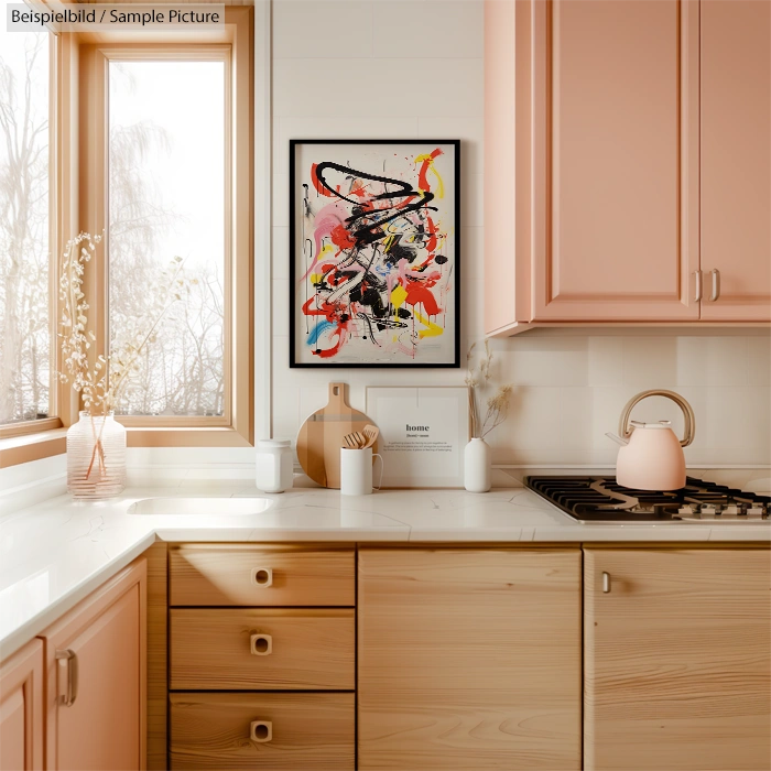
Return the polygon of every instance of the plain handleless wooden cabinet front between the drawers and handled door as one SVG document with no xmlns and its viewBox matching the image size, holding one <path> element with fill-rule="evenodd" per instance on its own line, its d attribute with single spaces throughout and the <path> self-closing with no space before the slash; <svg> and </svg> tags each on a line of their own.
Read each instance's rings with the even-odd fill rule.
<svg viewBox="0 0 771 771">
<path fill-rule="evenodd" d="M 359 553 L 360 771 L 578 771 L 580 552 Z"/>
</svg>

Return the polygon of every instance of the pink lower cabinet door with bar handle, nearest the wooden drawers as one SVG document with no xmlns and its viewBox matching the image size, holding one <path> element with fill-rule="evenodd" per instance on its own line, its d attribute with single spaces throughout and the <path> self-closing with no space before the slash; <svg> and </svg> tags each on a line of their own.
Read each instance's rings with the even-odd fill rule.
<svg viewBox="0 0 771 771">
<path fill-rule="evenodd" d="M 145 768 L 145 584 L 142 557 L 46 632 L 47 771 Z"/>
</svg>

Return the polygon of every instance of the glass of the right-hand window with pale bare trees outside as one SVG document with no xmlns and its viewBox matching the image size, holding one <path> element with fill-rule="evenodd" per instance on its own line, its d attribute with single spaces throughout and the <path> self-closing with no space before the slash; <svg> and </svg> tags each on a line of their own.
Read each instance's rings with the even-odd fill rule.
<svg viewBox="0 0 771 771">
<path fill-rule="evenodd" d="M 180 302 L 130 380 L 127 415 L 225 411 L 225 63 L 109 64 L 109 329 L 141 326 L 169 261 Z"/>
</svg>

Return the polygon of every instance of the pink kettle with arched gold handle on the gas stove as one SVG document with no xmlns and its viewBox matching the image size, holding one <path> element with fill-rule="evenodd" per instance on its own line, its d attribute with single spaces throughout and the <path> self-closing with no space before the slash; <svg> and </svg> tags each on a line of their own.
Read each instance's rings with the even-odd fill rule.
<svg viewBox="0 0 771 771">
<path fill-rule="evenodd" d="M 667 397 L 685 415 L 685 437 L 678 439 L 670 421 L 630 421 L 632 409 L 648 397 Z M 685 455 L 696 433 L 694 411 L 674 391 L 643 391 L 632 397 L 621 413 L 619 434 L 606 434 L 621 445 L 616 460 L 616 481 L 637 490 L 678 490 L 685 487 Z"/>
</svg>

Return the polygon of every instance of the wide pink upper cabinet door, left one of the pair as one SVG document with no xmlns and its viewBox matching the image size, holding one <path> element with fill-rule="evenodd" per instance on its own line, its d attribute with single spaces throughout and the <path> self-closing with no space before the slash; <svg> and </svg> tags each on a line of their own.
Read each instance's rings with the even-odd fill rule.
<svg viewBox="0 0 771 771">
<path fill-rule="evenodd" d="M 532 319 L 697 319 L 698 2 L 519 1 Z"/>
</svg>

